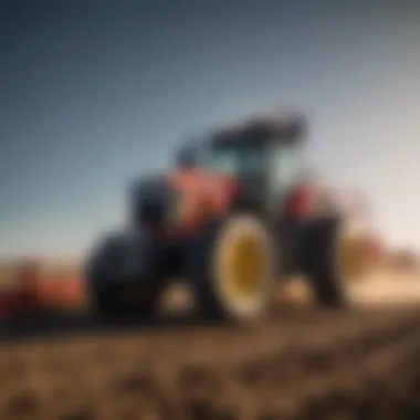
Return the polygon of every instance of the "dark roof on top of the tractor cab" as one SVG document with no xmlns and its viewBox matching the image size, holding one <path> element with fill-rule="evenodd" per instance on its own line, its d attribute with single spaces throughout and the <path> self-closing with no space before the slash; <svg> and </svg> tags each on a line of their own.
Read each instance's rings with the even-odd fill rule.
<svg viewBox="0 0 420 420">
<path fill-rule="evenodd" d="M 269 115 L 246 119 L 212 133 L 211 143 L 235 144 L 245 141 L 260 144 L 271 140 L 300 141 L 306 130 L 306 120 L 301 116 Z"/>
</svg>

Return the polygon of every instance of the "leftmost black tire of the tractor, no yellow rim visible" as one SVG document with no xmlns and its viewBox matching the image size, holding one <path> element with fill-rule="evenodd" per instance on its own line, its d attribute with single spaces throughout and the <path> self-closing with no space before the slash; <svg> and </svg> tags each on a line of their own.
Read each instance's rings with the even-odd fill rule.
<svg viewBox="0 0 420 420">
<path fill-rule="evenodd" d="M 137 240 L 140 240 L 140 237 L 137 237 Z M 133 251 L 129 249 L 133 244 L 133 238 L 127 235 L 109 235 L 88 261 L 87 292 L 93 313 L 101 321 L 149 319 L 156 312 L 161 282 L 154 277 L 151 267 L 146 270 L 143 266 L 141 272 L 125 270 L 127 252 Z M 146 248 L 143 248 L 143 251 L 146 252 Z M 140 256 L 138 255 L 138 259 Z M 145 258 L 144 262 L 151 263 L 151 259 Z M 123 292 L 134 284 L 144 287 L 144 294 L 141 300 L 130 303 L 124 300 Z"/>
</svg>

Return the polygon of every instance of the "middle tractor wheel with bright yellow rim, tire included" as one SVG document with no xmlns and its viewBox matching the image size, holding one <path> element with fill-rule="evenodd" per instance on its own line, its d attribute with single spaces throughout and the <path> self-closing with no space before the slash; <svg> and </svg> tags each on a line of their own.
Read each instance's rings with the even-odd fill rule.
<svg viewBox="0 0 420 420">
<path fill-rule="evenodd" d="M 273 246 L 270 229 L 253 214 L 232 214 L 209 225 L 189 254 L 201 314 L 235 323 L 263 317 L 275 285 Z"/>
</svg>

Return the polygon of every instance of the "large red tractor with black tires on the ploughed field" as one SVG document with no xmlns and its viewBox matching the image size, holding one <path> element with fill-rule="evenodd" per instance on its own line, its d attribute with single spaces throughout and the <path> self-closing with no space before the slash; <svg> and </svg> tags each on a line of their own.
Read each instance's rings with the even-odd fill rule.
<svg viewBox="0 0 420 420">
<path fill-rule="evenodd" d="M 85 265 L 94 312 L 148 318 L 182 277 L 204 318 L 252 323 L 295 273 L 319 305 L 346 306 L 345 280 L 363 264 L 346 267 L 346 223 L 315 206 L 306 130 L 300 115 L 250 118 L 182 143 L 167 172 L 135 179 L 126 228 L 102 237 Z"/>
</svg>

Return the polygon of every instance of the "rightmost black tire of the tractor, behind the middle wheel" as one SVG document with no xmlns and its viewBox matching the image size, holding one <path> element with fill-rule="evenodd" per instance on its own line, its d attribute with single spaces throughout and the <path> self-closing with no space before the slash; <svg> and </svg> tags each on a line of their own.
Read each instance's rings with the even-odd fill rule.
<svg viewBox="0 0 420 420">
<path fill-rule="evenodd" d="M 309 222 L 304 232 L 304 266 L 318 305 L 328 308 L 348 304 L 344 279 L 338 270 L 336 245 L 340 220 L 324 218 Z"/>
</svg>

